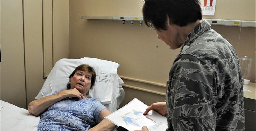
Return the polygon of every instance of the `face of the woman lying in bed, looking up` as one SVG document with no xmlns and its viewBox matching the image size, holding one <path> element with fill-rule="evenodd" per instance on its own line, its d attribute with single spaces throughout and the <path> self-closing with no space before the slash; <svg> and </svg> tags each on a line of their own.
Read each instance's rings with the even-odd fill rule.
<svg viewBox="0 0 256 131">
<path fill-rule="evenodd" d="M 74 76 L 69 78 L 70 89 L 76 88 L 85 95 L 91 88 L 91 76 L 90 72 L 76 71 Z"/>
</svg>

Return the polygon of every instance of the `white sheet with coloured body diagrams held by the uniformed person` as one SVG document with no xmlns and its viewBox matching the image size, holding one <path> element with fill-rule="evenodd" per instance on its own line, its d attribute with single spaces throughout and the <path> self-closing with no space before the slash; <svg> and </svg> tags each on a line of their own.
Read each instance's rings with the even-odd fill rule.
<svg viewBox="0 0 256 131">
<path fill-rule="evenodd" d="M 135 98 L 105 118 L 129 131 L 141 130 L 143 126 L 147 126 L 149 131 L 165 131 L 167 118 L 153 110 L 147 115 L 143 115 L 147 107 L 146 104 Z"/>
</svg>

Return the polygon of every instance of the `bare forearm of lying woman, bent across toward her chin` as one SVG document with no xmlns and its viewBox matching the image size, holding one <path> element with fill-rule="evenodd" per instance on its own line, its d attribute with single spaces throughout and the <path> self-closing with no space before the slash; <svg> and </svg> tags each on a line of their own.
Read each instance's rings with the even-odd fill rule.
<svg viewBox="0 0 256 131">
<path fill-rule="evenodd" d="M 39 116 L 43 111 L 54 103 L 66 98 L 65 92 L 59 92 L 54 95 L 46 96 L 37 100 L 34 100 L 28 105 L 28 112 L 34 116 Z"/>
</svg>

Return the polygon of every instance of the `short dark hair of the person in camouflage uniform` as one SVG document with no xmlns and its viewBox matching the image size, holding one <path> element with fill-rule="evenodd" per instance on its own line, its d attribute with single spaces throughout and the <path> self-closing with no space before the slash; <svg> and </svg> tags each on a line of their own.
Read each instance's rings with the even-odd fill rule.
<svg viewBox="0 0 256 131">
<path fill-rule="evenodd" d="M 167 30 L 167 15 L 170 24 L 181 27 L 203 17 L 200 0 L 144 0 L 142 13 L 145 24 L 158 30 Z"/>
</svg>

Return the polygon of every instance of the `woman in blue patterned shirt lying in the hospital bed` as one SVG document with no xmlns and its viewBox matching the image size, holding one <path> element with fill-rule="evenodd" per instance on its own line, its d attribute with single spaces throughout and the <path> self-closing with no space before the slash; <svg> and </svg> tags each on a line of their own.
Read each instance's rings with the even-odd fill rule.
<svg viewBox="0 0 256 131">
<path fill-rule="evenodd" d="M 104 119 L 110 111 L 97 99 L 87 98 L 95 78 L 94 69 L 82 64 L 69 76 L 67 90 L 30 102 L 28 111 L 40 115 L 38 130 L 113 130 L 115 125 Z"/>
</svg>

